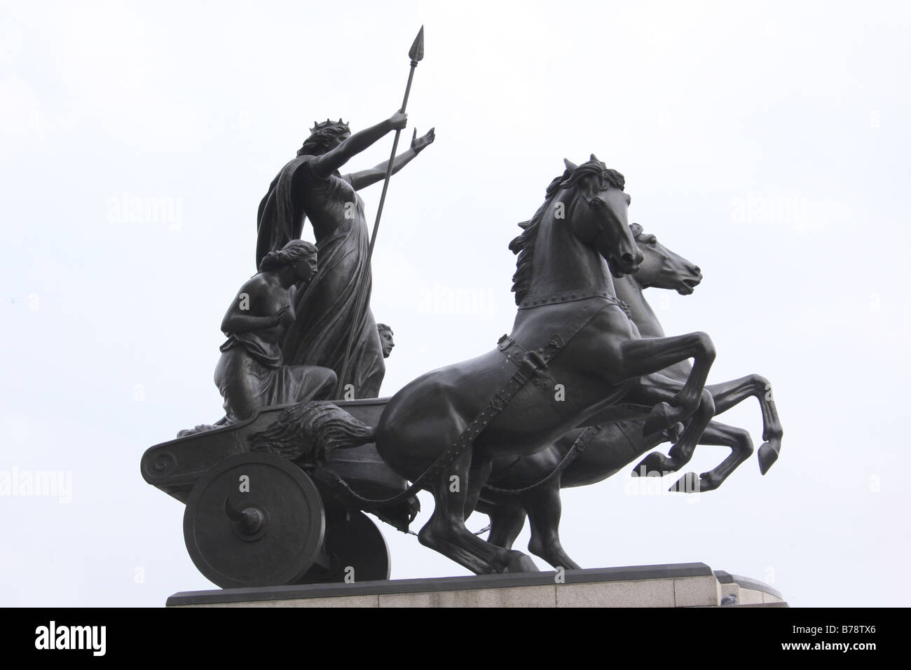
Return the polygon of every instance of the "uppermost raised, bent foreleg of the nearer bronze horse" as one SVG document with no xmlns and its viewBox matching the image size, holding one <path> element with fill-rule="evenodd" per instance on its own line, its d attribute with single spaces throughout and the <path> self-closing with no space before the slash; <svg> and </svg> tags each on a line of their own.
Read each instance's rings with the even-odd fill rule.
<svg viewBox="0 0 911 670">
<path fill-rule="evenodd" d="M 702 400 L 705 380 L 715 360 L 715 346 L 705 333 L 646 337 L 627 340 L 619 346 L 619 367 L 616 374 L 623 379 L 651 375 L 689 358 L 693 359 L 690 376 L 676 395 L 667 402 L 660 402 L 651 410 L 645 422 L 647 434 L 670 428 L 696 412 Z"/>
</svg>

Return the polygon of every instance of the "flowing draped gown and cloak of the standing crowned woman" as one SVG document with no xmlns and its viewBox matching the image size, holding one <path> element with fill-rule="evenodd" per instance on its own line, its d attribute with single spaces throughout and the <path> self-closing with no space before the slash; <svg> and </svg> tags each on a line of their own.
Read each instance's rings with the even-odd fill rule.
<svg viewBox="0 0 911 670">
<path fill-rule="evenodd" d="M 266 253 L 301 237 L 309 216 L 317 248 L 318 270 L 305 291 L 298 291 L 297 318 L 281 343 L 286 365 L 332 368 L 353 386 L 357 398 L 377 397 L 383 382 L 383 346 L 370 310 L 372 274 L 367 254 L 370 237 L 363 201 L 349 180 L 337 172 L 328 179 L 312 174 L 312 156 L 299 156 L 281 169 L 260 203 L 256 265 Z M 363 307 L 357 308 L 358 292 Z M 342 379 L 348 337 L 352 355 Z M 343 396 L 344 397 L 344 396 Z"/>
</svg>

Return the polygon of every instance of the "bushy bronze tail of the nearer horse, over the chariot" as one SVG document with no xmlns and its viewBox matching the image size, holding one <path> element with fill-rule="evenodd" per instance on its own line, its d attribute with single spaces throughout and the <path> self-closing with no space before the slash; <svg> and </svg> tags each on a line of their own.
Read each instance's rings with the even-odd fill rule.
<svg viewBox="0 0 911 670">
<path fill-rule="evenodd" d="M 253 433 L 251 451 L 268 451 L 286 459 L 325 459 L 335 449 L 374 441 L 376 429 L 326 401 L 302 402 L 284 410 L 269 426 Z"/>
</svg>

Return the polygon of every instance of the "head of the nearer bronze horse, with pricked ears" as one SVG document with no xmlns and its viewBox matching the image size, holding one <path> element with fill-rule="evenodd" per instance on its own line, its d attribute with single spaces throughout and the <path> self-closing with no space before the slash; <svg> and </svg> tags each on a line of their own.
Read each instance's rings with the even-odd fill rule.
<svg viewBox="0 0 911 670">
<path fill-rule="evenodd" d="M 578 166 L 563 162 L 567 171 L 561 188 L 578 188 L 575 210 L 568 216 L 576 236 L 598 250 L 615 277 L 635 273 L 643 256 L 627 223 L 631 199 L 623 191 L 623 175 L 609 170 L 595 154 Z"/>
</svg>

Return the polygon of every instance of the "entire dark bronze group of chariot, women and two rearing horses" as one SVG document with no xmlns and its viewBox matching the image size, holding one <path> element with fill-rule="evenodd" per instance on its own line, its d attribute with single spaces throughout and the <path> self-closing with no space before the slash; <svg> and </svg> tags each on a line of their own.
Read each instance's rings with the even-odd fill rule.
<svg viewBox="0 0 911 670">
<path fill-rule="evenodd" d="M 518 256 L 512 332 L 482 356 L 376 397 L 394 346 L 369 306 L 376 231 L 389 177 L 434 141 L 433 129 L 415 131 L 396 155 L 423 36 L 408 53 L 400 111 L 353 135 L 341 119 L 315 124 L 262 199 L 261 272 L 223 324 L 216 382 L 227 416 L 143 456 L 143 477 L 187 504 L 189 554 L 221 586 L 348 581 L 349 569 L 385 579 L 382 534 L 363 512 L 408 531 L 419 490 L 435 500 L 419 541 L 469 570 L 537 570 L 511 548 L 526 513 L 531 551 L 573 567 L 558 540 L 561 486 L 604 479 L 670 440 L 667 455 L 653 452 L 639 467 L 676 471 L 697 444 L 724 444 L 732 453 L 721 465 L 681 479 L 717 488 L 752 444 L 712 417 L 744 397 L 758 397 L 763 411 L 763 474 L 778 456 L 767 382 L 707 387 L 710 337 L 664 335 L 642 290 L 691 293 L 701 273 L 628 225 L 624 177 L 594 155 L 565 161 L 509 245 Z M 339 172 L 391 130 L 388 162 Z M 378 180 L 369 235 L 357 191 Z M 298 239 L 305 219 L 315 247 Z M 466 529 L 479 501 L 492 510 L 488 541 Z"/>
</svg>

